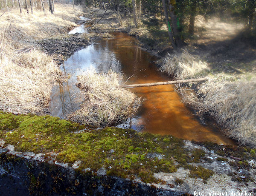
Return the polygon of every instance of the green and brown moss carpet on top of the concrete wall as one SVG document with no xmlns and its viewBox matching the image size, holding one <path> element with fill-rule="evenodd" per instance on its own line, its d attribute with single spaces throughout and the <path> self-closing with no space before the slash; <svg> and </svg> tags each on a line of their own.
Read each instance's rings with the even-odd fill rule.
<svg viewBox="0 0 256 196">
<path fill-rule="evenodd" d="M 172 136 L 110 127 L 93 129 L 53 116 L 0 112 L 0 137 L 16 151 L 45 153 L 46 157 L 54 153 L 58 162 L 72 165 L 80 161 L 81 171 L 105 168 L 107 175 L 140 177 L 143 182 L 158 183 L 154 173 L 176 172 L 181 166 L 189 168 L 192 177 L 208 179 L 213 173 L 189 165 L 199 162 L 204 151 L 189 151 L 182 139 Z"/>
</svg>

